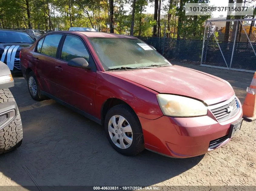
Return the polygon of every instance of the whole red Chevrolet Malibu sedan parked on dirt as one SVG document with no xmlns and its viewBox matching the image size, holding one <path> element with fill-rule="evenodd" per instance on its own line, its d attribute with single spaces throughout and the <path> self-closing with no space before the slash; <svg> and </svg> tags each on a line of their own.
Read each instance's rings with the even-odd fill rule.
<svg viewBox="0 0 256 191">
<path fill-rule="evenodd" d="M 241 127 L 241 103 L 227 81 L 171 65 L 132 36 L 50 32 L 20 57 L 34 100 L 52 98 L 104 125 L 121 154 L 146 148 L 193 157 L 226 144 Z"/>
</svg>

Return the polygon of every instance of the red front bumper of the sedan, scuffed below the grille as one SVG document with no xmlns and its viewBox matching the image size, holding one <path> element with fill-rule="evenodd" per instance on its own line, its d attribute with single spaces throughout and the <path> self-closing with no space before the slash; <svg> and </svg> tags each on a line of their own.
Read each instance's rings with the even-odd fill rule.
<svg viewBox="0 0 256 191">
<path fill-rule="evenodd" d="M 231 123 L 242 117 L 239 100 L 238 103 L 238 113 L 223 122 L 218 122 L 210 110 L 207 115 L 198 117 L 161 116 L 155 120 L 139 117 L 145 148 L 174 158 L 194 157 L 219 148 L 230 138 L 211 149 L 209 143 L 228 135 Z"/>
</svg>

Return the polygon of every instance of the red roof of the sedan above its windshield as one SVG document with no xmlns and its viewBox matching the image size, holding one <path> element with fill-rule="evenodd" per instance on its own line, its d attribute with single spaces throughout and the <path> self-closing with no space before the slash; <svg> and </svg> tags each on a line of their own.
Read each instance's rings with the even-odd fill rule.
<svg viewBox="0 0 256 191">
<path fill-rule="evenodd" d="M 136 39 L 136 37 L 123 35 L 123 34 L 114 34 L 114 33 L 104 33 L 104 32 L 93 32 L 93 31 L 51 31 L 49 33 L 69 33 L 69 34 L 84 34 L 86 37 L 105 37 L 105 38 L 131 38 Z"/>
</svg>

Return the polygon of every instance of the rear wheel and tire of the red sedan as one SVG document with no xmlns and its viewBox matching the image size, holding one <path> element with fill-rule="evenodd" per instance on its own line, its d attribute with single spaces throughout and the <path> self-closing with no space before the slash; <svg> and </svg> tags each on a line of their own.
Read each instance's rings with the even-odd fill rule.
<svg viewBox="0 0 256 191">
<path fill-rule="evenodd" d="M 28 84 L 28 92 L 34 100 L 40 101 L 40 100 L 48 99 L 48 97 L 40 93 L 40 87 L 39 87 L 37 78 L 34 72 L 32 71 L 29 72 L 27 76 L 27 84 Z"/>
</svg>

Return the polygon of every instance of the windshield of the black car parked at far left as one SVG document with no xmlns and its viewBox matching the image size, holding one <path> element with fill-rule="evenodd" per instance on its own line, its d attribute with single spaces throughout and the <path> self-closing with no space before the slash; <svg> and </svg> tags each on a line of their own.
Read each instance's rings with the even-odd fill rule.
<svg viewBox="0 0 256 191">
<path fill-rule="evenodd" d="M 27 33 L 14 31 L 0 31 L 0 43 L 29 43 L 35 42 Z"/>
</svg>

